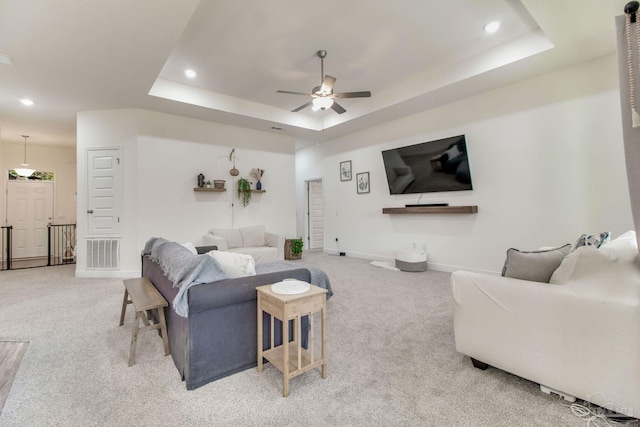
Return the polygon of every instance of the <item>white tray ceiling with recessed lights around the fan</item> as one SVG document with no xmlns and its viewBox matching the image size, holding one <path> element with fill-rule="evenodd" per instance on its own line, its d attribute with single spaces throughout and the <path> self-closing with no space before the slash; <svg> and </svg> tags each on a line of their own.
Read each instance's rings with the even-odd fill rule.
<svg viewBox="0 0 640 427">
<path fill-rule="evenodd" d="M 78 111 L 145 108 L 321 142 L 612 54 L 626 3 L 0 0 L 0 141 L 74 146 Z M 290 112 L 310 98 L 276 90 L 311 92 L 320 49 L 372 97 Z"/>
</svg>

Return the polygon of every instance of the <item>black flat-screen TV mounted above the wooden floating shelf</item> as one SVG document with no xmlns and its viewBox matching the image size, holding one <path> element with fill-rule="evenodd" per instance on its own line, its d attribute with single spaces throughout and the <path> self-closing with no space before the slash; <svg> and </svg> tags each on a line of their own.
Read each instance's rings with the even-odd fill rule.
<svg viewBox="0 0 640 427">
<path fill-rule="evenodd" d="M 464 135 L 382 152 L 391 194 L 473 190 Z"/>
</svg>

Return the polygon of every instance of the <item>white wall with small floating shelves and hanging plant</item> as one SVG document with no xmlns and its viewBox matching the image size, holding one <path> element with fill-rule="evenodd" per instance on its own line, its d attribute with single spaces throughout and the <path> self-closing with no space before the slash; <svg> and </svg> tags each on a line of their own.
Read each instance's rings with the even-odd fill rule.
<svg viewBox="0 0 640 427">
<path fill-rule="evenodd" d="M 101 146 L 124 150 L 121 268 L 117 272 L 86 270 L 86 259 L 80 256 L 86 251 L 86 215 L 79 215 L 77 275 L 139 274 L 140 251 L 154 236 L 197 245 L 210 228 L 256 224 L 295 236 L 294 141 L 290 137 L 145 110 L 81 112 L 78 212 L 86 212 L 86 149 Z M 266 193 L 253 194 L 247 207 L 233 191 L 232 148 L 236 148 L 240 176 L 249 178 L 251 168 L 265 169 Z M 227 191 L 194 192 L 199 173 L 206 179 L 226 180 Z"/>
</svg>

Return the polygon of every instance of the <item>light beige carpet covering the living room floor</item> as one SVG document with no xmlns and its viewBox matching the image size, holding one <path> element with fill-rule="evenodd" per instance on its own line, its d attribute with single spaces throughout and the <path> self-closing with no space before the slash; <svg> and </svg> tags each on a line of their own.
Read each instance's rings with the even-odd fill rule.
<svg viewBox="0 0 640 427">
<path fill-rule="evenodd" d="M 335 295 L 328 377 L 292 379 L 288 398 L 271 365 L 187 391 L 154 333 L 127 367 L 120 280 L 76 278 L 73 265 L 1 272 L 0 338 L 30 344 L 0 425 L 584 425 L 537 384 L 455 351 L 449 274 L 309 252 L 298 262 L 324 269 Z"/>
</svg>

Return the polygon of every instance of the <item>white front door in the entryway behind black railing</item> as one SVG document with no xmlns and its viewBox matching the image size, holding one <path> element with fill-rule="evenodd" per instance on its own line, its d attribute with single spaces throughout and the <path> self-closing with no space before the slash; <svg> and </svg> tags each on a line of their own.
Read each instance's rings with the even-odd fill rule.
<svg viewBox="0 0 640 427">
<path fill-rule="evenodd" d="M 13 258 L 47 256 L 47 225 L 52 220 L 53 182 L 7 182 L 7 225 L 13 226 Z"/>
</svg>

